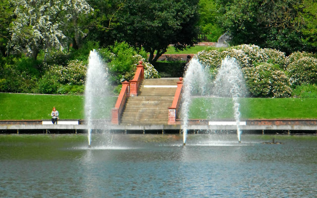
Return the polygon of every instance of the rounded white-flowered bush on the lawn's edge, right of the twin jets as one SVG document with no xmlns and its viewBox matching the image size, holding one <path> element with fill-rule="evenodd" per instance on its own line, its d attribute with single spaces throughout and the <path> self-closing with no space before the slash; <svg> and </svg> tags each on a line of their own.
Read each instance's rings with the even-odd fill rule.
<svg viewBox="0 0 317 198">
<path fill-rule="evenodd" d="M 289 78 L 276 65 L 262 63 L 242 71 L 253 97 L 282 98 L 292 95 Z"/>
</svg>

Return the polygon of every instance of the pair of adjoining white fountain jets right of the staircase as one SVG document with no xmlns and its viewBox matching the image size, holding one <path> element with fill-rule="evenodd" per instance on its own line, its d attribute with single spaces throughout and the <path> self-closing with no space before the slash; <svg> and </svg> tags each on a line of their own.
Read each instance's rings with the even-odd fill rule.
<svg viewBox="0 0 317 198">
<path fill-rule="evenodd" d="M 209 76 L 209 68 L 202 66 L 198 60 L 192 59 L 188 65 L 188 69 L 184 75 L 184 89 L 181 107 L 183 144 L 186 144 L 187 128 L 188 128 L 188 112 L 193 96 L 207 96 L 218 98 L 232 98 L 233 114 L 237 126 L 238 142 L 241 143 L 240 135 L 240 112 L 239 98 L 245 97 L 247 89 L 242 72 L 234 58 L 225 58 L 221 62 L 221 67 L 218 69 L 217 75 L 211 82 Z M 223 104 L 214 105 L 221 107 Z M 215 109 L 212 112 L 217 112 Z M 217 118 L 214 115 L 213 118 Z"/>
</svg>

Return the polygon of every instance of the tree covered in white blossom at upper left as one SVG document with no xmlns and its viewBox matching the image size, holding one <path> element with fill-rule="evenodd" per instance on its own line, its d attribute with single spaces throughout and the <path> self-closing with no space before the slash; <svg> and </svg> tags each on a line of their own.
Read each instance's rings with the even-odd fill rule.
<svg viewBox="0 0 317 198">
<path fill-rule="evenodd" d="M 92 8 L 85 0 L 12 0 L 16 19 L 10 24 L 9 50 L 24 52 L 36 59 L 41 49 L 62 50 L 67 44 L 67 27 L 74 37 L 81 34 L 77 22 Z M 77 34 L 77 35 L 76 35 Z M 69 35 L 69 32 L 68 32 Z"/>
</svg>

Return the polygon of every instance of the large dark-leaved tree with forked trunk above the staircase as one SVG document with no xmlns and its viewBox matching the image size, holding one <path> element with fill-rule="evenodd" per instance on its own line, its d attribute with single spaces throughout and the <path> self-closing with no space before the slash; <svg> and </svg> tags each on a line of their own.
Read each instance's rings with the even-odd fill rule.
<svg viewBox="0 0 317 198">
<path fill-rule="evenodd" d="M 128 0 L 118 13 L 116 38 L 150 53 L 156 62 L 172 44 L 183 50 L 196 43 L 199 0 Z M 155 55 L 156 51 L 156 55 Z"/>
</svg>

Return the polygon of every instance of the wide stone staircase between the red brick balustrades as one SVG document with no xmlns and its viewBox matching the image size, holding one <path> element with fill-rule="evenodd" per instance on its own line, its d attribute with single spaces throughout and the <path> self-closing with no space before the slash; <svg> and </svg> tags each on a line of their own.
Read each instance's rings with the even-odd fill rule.
<svg viewBox="0 0 317 198">
<path fill-rule="evenodd" d="M 120 124 L 167 124 L 178 78 L 144 79 L 138 96 L 129 97 Z"/>
</svg>

